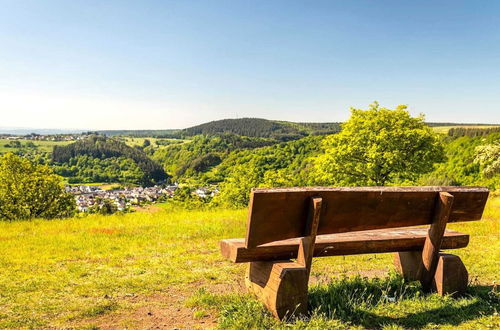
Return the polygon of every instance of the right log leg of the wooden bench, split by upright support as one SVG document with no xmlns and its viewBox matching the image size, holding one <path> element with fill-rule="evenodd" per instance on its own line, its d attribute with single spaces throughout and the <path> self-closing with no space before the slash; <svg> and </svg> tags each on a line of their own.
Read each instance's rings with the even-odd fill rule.
<svg viewBox="0 0 500 330">
<path fill-rule="evenodd" d="M 422 254 L 418 251 L 398 252 L 395 254 L 396 270 L 407 281 L 417 281 L 418 269 L 422 263 Z M 461 295 L 467 289 L 469 275 L 462 260 L 449 253 L 439 253 L 436 274 L 432 288 L 439 295 Z"/>
</svg>

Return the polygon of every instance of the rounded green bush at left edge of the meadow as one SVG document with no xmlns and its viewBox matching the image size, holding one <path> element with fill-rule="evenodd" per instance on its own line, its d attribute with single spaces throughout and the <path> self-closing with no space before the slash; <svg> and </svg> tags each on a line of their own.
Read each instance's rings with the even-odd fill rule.
<svg viewBox="0 0 500 330">
<path fill-rule="evenodd" d="M 0 220 L 62 218 L 75 211 L 61 177 L 12 153 L 0 156 Z"/>
</svg>

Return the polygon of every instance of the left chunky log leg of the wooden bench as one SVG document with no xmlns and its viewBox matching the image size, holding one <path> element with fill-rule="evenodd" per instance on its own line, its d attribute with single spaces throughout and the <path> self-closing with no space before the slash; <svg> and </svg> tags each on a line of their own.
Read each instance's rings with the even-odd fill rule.
<svg viewBox="0 0 500 330">
<path fill-rule="evenodd" d="M 254 293 L 278 319 L 307 313 L 307 268 L 292 261 L 251 262 L 245 277 Z"/>
</svg>

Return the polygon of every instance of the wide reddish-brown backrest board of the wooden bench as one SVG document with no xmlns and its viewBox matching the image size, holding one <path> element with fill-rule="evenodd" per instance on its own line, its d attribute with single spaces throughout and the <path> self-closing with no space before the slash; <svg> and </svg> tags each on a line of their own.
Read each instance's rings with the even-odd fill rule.
<svg viewBox="0 0 500 330">
<path fill-rule="evenodd" d="M 246 247 L 304 236 L 311 197 L 323 199 L 318 235 L 430 224 L 439 192 L 453 195 L 449 222 L 481 219 L 483 187 L 356 187 L 254 189 Z"/>
</svg>

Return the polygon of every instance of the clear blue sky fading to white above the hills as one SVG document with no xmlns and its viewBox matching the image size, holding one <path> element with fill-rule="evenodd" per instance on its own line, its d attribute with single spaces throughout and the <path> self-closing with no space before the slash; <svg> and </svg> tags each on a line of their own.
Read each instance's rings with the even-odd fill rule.
<svg viewBox="0 0 500 330">
<path fill-rule="evenodd" d="M 0 0 L 0 126 L 500 122 L 500 1 Z"/>
</svg>

